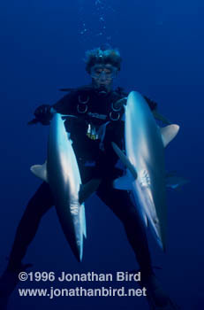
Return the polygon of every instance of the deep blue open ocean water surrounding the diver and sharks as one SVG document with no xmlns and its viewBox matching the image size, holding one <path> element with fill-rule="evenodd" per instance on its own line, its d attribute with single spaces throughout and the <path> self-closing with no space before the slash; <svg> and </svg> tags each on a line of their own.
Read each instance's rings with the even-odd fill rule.
<svg viewBox="0 0 204 310">
<path fill-rule="evenodd" d="M 123 58 L 115 85 L 155 100 L 158 111 L 180 126 L 168 145 L 166 167 L 190 180 L 168 190 L 168 241 L 163 254 L 150 248 L 163 287 L 183 310 L 204 307 L 203 129 L 204 3 L 162 0 L 2 1 L 0 4 L 1 201 L 0 271 L 19 220 L 41 181 L 30 172 L 46 158 L 49 127 L 27 126 L 34 109 L 64 96 L 60 88 L 90 82 L 85 51 L 110 43 Z M 25 262 L 31 271 L 112 273 L 137 269 L 122 224 L 110 209 L 89 198 L 84 259 L 72 255 L 53 207 L 42 218 Z M 72 288 L 79 283 L 25 282 L 20 288 Z M 88 288 L 104 283 L 80 283 Z M 123 283 L 137 287 L 137 283 Z M 121 283 L 109 283 L 117 287 Z M 139 309 L 138 297 L 19 297 L 8 310 Z"/>
</svg>

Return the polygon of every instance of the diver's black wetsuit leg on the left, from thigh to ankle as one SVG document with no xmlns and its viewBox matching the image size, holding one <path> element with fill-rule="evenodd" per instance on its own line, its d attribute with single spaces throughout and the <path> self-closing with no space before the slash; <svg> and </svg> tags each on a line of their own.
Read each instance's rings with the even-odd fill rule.
<svg viewBox="0 0 204 310">
<path fill-rule="evenodd" d="M 54 198 L 49 184 L 43 182 L 26 206 L 16 232 L 8 263 L 8 270 L 16 270 L 21 266 L 21 260 L 26 255 L 28 245 L 34 239 L 42 215 L 54 205 Z"/>
</svg>

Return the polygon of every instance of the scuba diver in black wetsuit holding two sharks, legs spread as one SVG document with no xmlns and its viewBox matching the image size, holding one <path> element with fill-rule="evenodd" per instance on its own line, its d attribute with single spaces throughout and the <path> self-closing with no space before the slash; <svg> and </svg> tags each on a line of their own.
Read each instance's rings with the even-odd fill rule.
<svg viewBox="0 0 204 310">
<path fill-rule="evenodd" d="M 151 309 L 176 309 L 177 306 L 171 302 L 155 277 L 146 230 L 140 222 L 130 193 L 127 190 L 116 190 L 112 186 L 113 180 L 124 174 L 122 169 L 116 167 L 118 157 L 111 145 L 114 142 L 120 149 L 124 149 L 123 116 L 128 94 L 122 88 L 113 89 L 113 80 L 120 71 L 121 61 L 119 51 L 110 47 L 87 50 L 85 62 L 87 74 L 92 79 L 91 84 L 78 89 L 63 89 L 68 94 L 55 105 L 39 106 L 34 111 L 35 119 L 28 124 L 40 122 L 49 125 L 53 109 L 61 114 L 77 116 L 65 120 L 64 126 L 71 135 L 82 183 L 91 182 L 92 191 L 123 223 L 127 239 L 140 265 L 140 285 L 147 288 L 147 301 Z M 151 111 L 156 113 L 157 104 L 144 98 Z M 30 267 L 29 264 L 23 264 L 22 260 L 42 216 L 53 205 L 55 201 L 49 184 L 42 182 L 19 222 L 8 265 L 0 279 L 0 297 L 9 297 L 19 281 L 19 272 Z"/>
</svg>

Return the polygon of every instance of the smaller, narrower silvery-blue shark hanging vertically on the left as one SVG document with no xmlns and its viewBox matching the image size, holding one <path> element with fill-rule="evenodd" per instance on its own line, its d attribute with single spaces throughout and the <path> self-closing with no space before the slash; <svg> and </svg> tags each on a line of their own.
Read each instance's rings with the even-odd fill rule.
<svg viewBox="0 0 204 310">
<path fill-rule="evenodd" d="M 83 235 L 86 236 L 85 207 L 79 203 L 81 180 L 72 140 L 59 113 L 54 114 L 49 128 L 47 162 L 31 167 L 31 171 L 49 182 L 64 236 L 77 260 L 81 261 Z"/>
</svg>

